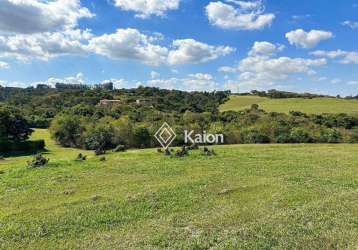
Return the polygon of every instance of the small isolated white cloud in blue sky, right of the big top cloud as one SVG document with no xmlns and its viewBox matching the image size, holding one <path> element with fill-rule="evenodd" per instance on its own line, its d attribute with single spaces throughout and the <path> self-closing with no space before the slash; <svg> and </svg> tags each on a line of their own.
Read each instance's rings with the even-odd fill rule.
<svg viewBox="0 0 358 250">
<path fill-rule="evenodd" d="M 296 45 L 297 47 L 305 49 L 313 48 L 321 41 L 332 37 L 332 32 L 323 30 L 311 30 L 306 32 L 302 29 L 297 29 L 286 33 L 286 38 L 291 45 Z"/>
</svg>

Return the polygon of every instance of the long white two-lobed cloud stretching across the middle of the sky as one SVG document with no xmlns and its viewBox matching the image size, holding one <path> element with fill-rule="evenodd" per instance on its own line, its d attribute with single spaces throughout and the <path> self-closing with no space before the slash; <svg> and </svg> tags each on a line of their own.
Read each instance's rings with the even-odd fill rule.
<svg viewBox="0 0 358 250">
<path fill-rule="evenodd" d="M 112 59 L 139 60 L 154 66 L 203 63 L 234 51 L 231 47 L 211 46 L 193 39 L 174 40 L 172 48 L 157 45 L 155 41 L 156 37 L 136 29 L 118 29 L 114 34 L 92 38 L 89 49 Z"/>
</svg>

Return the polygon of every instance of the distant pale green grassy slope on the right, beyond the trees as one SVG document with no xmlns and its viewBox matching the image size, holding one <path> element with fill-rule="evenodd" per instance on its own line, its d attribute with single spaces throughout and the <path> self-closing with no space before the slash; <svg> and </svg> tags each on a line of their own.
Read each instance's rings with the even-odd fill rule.
<svg viewBox="0 0 358 250">
<path fill-rule="evenodd" d="M 270 99 L 258 96 L 231 96 L 230 100 L 221 105 L 221 111 L 239 111 L 258 104 L 260 108 L 270 112 L 288 113 L 301 111 L 308 114 L 319 113 L 348 113 L 358 114 L 358 100 L 343 100 L 336 98 L 288 98 Z"/>
</svg>

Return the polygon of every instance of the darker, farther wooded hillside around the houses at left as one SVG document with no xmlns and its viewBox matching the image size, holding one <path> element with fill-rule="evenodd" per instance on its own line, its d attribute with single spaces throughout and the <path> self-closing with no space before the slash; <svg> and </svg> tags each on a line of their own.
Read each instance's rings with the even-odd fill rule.
<svg viewBox="0 0 358 250">
<path fill-rule="evenodd" d="M 0 103 L 22 110 L 31 127 L 48 128 L 53 118 L 60 112 L 75 106 L 79 115 L 94 112 L 96 105 L 104 99 L 117 99 L 122 105 L 118 112 L 131 110 L 132 116 L 140 118 L 146 109 L 160 112 L 217 112 L 229 92 L 183 92 L 139 87 L 136 89 L 111 90 L 113 84 L 107 83 L 89 89 L 85 85 L 57 84 L 57 88 L 0 88 Z M 62 86 L 63 87 L 59 87 Z M 139 103 L 138 103 L 138 102 Z M 103 111 L 98 111 L 101 116 Z"/>
</svg>

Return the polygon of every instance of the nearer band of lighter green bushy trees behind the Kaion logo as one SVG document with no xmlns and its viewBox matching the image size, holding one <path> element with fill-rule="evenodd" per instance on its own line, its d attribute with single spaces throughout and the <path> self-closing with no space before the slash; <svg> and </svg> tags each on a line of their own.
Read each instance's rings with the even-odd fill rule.
<svg viewBox="0 0 358 250">
<path fill-rule="evenodd" d="M 341 143 L 357 142 L 358 117 L 346 114 L 307 115 L 267 113 L 252 105 L 241 112 L 223 113 L 162 113 L 148 109 L 141 116 L 98 111 L 78 115 L 75 106 L 58 114 L 52 122 L 51 134 L 62 146 L 87 150 L 104 150 L 124 145 L 125 148 L 159 146 L 154 138 L 163 122 L 169 122 L 177 132 L 174 145 L 184 145 L 184 130 L 203 134 L 223 134 L 226 144 L 242 143 Z M 93 114 L 93 115 L 91 115 Z M 119 117 L 119 118 L 117 118 Z"/>
</svg>

